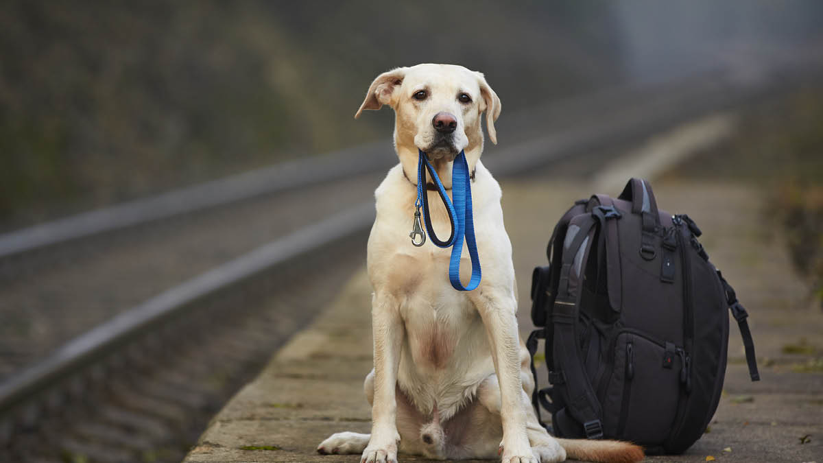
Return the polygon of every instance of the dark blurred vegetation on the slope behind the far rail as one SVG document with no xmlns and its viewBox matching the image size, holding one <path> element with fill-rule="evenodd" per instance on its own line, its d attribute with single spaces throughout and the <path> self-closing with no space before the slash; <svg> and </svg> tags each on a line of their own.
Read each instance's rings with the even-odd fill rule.
<svg viewBox="0 0 823 463">
<path fill-rule="evenodd" d="M 386 111 L 352 115 L 396 66 L 481 70 L 506 111 L 613 83 L 610 14 L 595 2 L 6 0 L 0 231 L 385 137 Z"/>
</svg>

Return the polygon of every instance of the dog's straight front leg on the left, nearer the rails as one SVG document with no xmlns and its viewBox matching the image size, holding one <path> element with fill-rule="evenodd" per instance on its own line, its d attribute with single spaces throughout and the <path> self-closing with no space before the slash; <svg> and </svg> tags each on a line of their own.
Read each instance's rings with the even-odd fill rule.
<svg viewBox="0 0 823 463">
<path fill-rule="evenodd" d="M 381 292 L 372 297 L 374 337 L 374 403 L 371 408 L 371 438 L 361 463 L 397 463 L 400 434 L 394 391 L 398 382 L 400 349 L 406 330 L 398 300 Z"/>
</svg>

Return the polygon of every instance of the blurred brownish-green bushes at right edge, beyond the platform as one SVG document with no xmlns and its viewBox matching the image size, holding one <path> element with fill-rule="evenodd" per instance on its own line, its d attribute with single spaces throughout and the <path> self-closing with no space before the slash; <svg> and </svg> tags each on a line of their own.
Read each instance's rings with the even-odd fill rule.
<svg viewBox="0 0 823 463">
<path fill-rule="evenodd" d="M 678 174 L 754 181 L 783 227 L 797 270 L 823 305 L 823 87 L 803 87 L 746 110 L 737 133 Z"/>
</svg>

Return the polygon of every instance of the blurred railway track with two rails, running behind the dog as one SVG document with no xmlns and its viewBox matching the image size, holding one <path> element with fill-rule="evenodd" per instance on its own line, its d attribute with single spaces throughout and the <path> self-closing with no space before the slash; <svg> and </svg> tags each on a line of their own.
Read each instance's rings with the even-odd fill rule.
<svg viewBox="0 0 823 463">
<path fill-rule="evenodd" d="M 585 164 L 584 153 L 783 84 L 710 75 L 605 91 L 501 119 L 500 133 L 521 142 L 490 147 L 484 162 L 498 176 L 574 155 Z M 362 264 L 388 150 L 376 143 L 291 164 L 289 175 L 258 171 L 0 236 L 0 314 L 36 325 L 0 328 L 0 461 L 179 461 Z"/>
</svg>

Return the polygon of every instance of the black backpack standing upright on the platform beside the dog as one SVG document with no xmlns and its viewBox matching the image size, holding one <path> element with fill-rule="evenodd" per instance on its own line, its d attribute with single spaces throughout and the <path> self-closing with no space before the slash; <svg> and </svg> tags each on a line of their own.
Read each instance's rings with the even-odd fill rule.
<svg viewBox="0 0 823 463">
<path fill-rule="evenodd" d="M 727 307 L 758 381 L 746 310 L 709 262 L 688 216 L 658 211 L 632 179 L 614 199 L 581 199 L 557 222 L 532 275 L 532 374 L 546 339 L 550 387 L 532 402 L 557 437 L 620 439 L 681 453 L 717 409 L 728 348 Z M 541 375 L 542 376 L 542 375 Z M 542 421 L 541 421 L 542 423 Z"/>
</svg>

